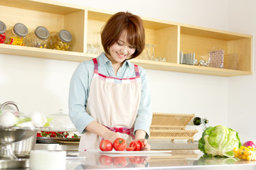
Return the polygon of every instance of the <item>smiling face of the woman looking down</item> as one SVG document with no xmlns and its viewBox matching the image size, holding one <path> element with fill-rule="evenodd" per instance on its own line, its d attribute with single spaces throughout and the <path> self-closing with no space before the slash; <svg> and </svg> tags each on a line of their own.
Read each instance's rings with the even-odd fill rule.
<svg viewBox="0 0 256 170">
<path fill-rule="evenodd" d="M 107 56 L 112 64 L 122 63 L 134 54 L 136 47 L 127 42 L 127 33 L 122 32 L 117 42 L 110 46 L 110 56 Z"/>
</svg>

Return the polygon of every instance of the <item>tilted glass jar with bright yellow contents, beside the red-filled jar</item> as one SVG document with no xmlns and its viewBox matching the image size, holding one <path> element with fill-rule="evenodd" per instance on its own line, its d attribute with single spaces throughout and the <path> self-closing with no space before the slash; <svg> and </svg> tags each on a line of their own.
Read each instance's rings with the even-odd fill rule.
<svg viewBox="0 0 256 170">
<path fill-rule="evenodd" d="M 16 23 L 14 27 L 6 30 L 5 44 L 24 46 L 28 28 L 23 23 Z"/>
</svg>

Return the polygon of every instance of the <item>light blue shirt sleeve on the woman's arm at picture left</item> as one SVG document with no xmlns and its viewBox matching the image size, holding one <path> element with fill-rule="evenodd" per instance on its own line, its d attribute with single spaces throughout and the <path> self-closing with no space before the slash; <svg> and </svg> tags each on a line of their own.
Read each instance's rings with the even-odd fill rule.
<svg viewBox="0 0 256 170">
<path fill-rule="evenodd" d="M 70 80 L 68 96 L 70 120 L 80 133 L 84 133 L 87 125 L 94 120 L 85 111 L 93 74 L 91 64 L 88 63 L 90 62 L 82 62 L 78 65 L 77 69 L 75 69 Z"/>
</svg>

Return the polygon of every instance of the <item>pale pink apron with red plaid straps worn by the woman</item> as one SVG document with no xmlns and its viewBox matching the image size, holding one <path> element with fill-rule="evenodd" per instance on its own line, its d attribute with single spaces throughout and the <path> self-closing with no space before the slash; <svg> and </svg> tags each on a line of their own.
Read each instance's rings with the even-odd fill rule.
<svg viewBox="0 0 256 170">
<path fill-rule="evenodd" d="M 141 98 L 139 67 L 134 65 L 136 77 L 118 79 L 100 74 L 97 59 L 92 60 L 95 69 L 85 111 L 97 123 L 105 125 L 114 132 L 120 132 L 119 136 L 129 142 L 132 140 L 132 134 L 127 134 L 133 132 Z M 79 150 L 98 149 L 101 140 L 102 137 L 86 131 L 81 136 Z"/>
</svg>

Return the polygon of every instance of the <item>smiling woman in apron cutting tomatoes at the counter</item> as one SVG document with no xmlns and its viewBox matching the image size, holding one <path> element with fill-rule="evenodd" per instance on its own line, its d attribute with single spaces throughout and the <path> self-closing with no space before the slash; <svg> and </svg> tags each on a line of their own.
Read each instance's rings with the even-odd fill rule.
<svg viewBox="0 0 256 170">
<path fill-rule="evenodd" d="M 142 53 L 142 19 L 128 12 L 114 14 L 102 33 L 102 52 L 79 64 L 70 81 L 70 119 L 82 133 L 79 150 L 98 149 L 104 138 L 114 142 L 141 140 L 144 150 L 151 124 L 151 98 L 146 72 L 129 62 Z"/>
</svg>

